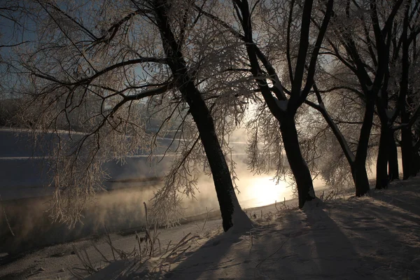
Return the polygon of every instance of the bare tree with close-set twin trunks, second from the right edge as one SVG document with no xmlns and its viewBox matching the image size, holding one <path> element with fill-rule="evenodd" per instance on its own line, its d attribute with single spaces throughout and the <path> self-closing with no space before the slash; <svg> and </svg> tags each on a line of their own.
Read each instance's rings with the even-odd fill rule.
<svg viewBox="0 0 420 280">
<path fill-rule="evenodd" d="M 403 3 L 405 5 L 402 5 Z M 338 27 L 336 30 L 340 32 L 338 34 L 343 34 L 340 41 L 346 49 L 346 55 L 339 53 L 339 45 L 331 48 L 335 57 L 358 77 L 360 92 L 363 93 L 360 98 L 365 101 L 365 104 L 369 103 L 370 107 L 373 106 L 372 102 L 376 105 L 377 111 L 374 113 L 377 114 L 381 123 L 376 183 L 376 188 L 379 189 L 385 188 L 389 179 L 398 178 L 398 153 L 393 123 L 405 106 L 406 90 L 401 86 L 403 83 L 398 80 L 399 73 L 402 73 L 403 77 L 404 71 L 395 70 L 400 64 L 400 49 L 402 38 L 405 36 L 404 28 L 402 32 L 399 31 L 402 25 L 401 20 L 402 18 L 408 20 L 409 14 L 413 15 L 408 12 L 409 7 L 416 8 L 407 1 L 394 1 L 391 4 L 382 2 L 378 4 L 377 1 L 347 1 L 343 8 L 344 14 L 337 18 L 343 22 L 342 19 L 346 17 L 346 25 L 352 28 L 342 27 L 340 24 L 335 25 Z M 415 36 L 415 31 L 412 36 Z M 408 71 L 408 65 L 403 69 Z M 372 88 L 369 86 L 366 91 L 363 84 L 372 85 Z M 372 111 L 372 108 L 367 111 Z M 367 134 L 363 138 L 366 142 Z"/>
</svg>

